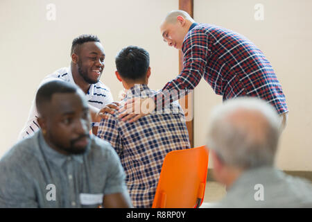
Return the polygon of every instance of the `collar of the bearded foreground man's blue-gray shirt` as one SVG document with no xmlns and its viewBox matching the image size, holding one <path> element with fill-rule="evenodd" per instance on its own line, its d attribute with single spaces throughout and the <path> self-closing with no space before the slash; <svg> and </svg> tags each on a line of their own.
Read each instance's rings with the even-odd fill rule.
<svg viewBox="0 0 312 222">
<path fill-rule="evenodd" d="M 50 162 L 53 162 L 56 164 L 58 167 L 62 167 L 62 164 L 66 161 L 71 161 L 75 160 L 79 162 L 80 164 L 83 163 L 83 156 L 89 152 L 90 146 L 87 147 L 87 151 L 83 155 L 64 155 L 62 153 L 59 153 L 58 151 L 55 151 L 51 146 L 49 146 L 43 135 L 42 135 L 42 130 L 39 131 L 39 145 L 42 148 L 42 152 L 46 156 L 47 160 Z"/>
</svg>

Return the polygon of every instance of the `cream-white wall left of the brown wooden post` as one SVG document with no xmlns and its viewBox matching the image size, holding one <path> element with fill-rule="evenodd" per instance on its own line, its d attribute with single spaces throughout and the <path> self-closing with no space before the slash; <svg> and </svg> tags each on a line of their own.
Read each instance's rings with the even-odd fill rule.
<svg viewBox="0 0 312 222">
<path fill-rule="evenodd" d="M 46 19 L 54 3 L 55 21 Z M 178 1 L 166 0 L 1 0 L 0 1 L 0 157 L 15 144 L 42 78 L 69 66 L 71 42 L 83 33 L 100 38 L 106 58 L 101 80 L 118 99 L 121 83 L 114 57 L 125 46 L 150 53 L 150 87 L 162 89 L 178 74 L 178 52 L 162 40 L 159 25 Z"/>
</svg>

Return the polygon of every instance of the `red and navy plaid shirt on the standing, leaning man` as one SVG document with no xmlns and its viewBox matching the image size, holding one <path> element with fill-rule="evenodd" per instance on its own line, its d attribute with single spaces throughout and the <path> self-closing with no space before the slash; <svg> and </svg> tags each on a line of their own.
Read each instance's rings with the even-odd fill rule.
<svg viewBox="0 0 312 222">
<path fill-rule="evenodd" d="M 288 112 L 286 99 L 270 62 L 243 35 L 210 24 L 193 24 L 182 44 L 183 70 L 163 89 L 194 89 L 203 77 L 223 101 L 255 96 L 270 102 L 279 114 Z M 172 95 L 172 94 L 171 94 Z M 158 95 L 157 95 L 158 96 Z M 163 93 L 166 100 L 169 99 Z M 178 99 L 178 95 L 172 100 Z M 157 107 L 162 101 L 157 101 Z"/>
</svg>

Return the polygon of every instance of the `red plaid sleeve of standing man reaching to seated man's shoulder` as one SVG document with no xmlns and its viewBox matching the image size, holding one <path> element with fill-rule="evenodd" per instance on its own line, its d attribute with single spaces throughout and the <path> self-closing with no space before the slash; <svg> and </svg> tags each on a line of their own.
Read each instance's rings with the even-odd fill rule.
<svg viewBox="0 0 312 222">
<path fill-rule="evenodd" d="M 180 99 L 198 85 L 209 58 L 207 34 L 200 29 L 189 32 L 184 40 L 182 51 L 184 52 L 183 69 L 177 78 L 168 82 L 162 91 L 156 94 L 157 108 L 164 103 L 172 103 Z"/>
</svg>

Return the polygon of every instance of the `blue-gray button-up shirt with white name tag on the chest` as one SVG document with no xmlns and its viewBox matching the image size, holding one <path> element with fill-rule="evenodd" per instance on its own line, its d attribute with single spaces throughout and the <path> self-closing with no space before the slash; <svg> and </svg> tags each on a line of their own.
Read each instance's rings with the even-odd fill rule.
<svg viewBox="0 0 312 222">
<path fill-rule="evenodd" d="M 96 207 L 123 193 L 125 173 L 114 148 L 92 135 L 83 155 L 62 155 L 41 130 L 0 160 L 0 207 Z"/>
</svg>

